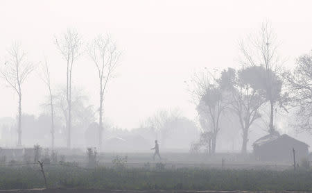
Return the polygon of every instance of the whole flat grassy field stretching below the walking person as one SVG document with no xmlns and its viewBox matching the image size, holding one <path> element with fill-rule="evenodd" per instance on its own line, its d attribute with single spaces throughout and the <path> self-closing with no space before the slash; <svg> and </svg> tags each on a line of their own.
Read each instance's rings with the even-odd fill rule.
<svg viewBox="0 0 312 193">
<path fill-rule="evenodd" d="M 114 161 L 116 156 L 127 159 Z M 162 153 L 160 162 L 154 161 L 151 153 L 100 153 L 97 167 L 90 166 L 83 154 L 69 154 L 65 158 L 64 162 L 44 162 L 47 185 L 52 188 L 49 190 L 42 189 L 44 178 L 38 164 L 22 159 L 2 163 L 0 190 L 312 191 L 311 169 L 299 167 L 294 171 L 290 162 L 259 162 L 252 154 Z M 27 190 L 33 188 L 37 190 Z"/>
</svg>

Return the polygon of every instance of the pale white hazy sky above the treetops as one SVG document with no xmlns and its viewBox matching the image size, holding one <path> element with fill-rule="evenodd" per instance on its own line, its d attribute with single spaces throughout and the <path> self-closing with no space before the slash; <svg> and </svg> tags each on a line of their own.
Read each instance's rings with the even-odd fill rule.
<svg viewBox="0 0 312 193">
<path fill-rule="evenodd" d="M 28 60 L 46 55 L 53 87 L 66 69 L 54 35 L 76 28 L 85 42 L 111 33 L 123 52 L 118 77 L 108 87 L 105 117 L 123 128 L 139 126 L 161 108 L 196 115 L 184 81 L 201 67 L 236 67 L 237 42 L 270 20 L 287 65 L 312 49 L 312 1 L 0 1 L 0 62 L 12 41 L 21 42 Z M 93 63 L 82 56 L 73 69 L 73 85 L 98 106 Z M 17 96 L 0 80 L 0 117 L 14 117 Z M 38 115 L 47 94 L 37 73 L 24 85 L 23 111 Z"/>
</svg>

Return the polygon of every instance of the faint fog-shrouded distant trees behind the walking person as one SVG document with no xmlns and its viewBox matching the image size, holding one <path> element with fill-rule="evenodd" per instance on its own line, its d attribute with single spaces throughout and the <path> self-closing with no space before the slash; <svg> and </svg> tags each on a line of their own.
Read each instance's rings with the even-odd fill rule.
<svg viewBox="0 0 312 193">
<path fill-rule="evenodd" d="M 87 146 L 96 144 L 98 124 L 90 124 L 85 131 Z M 158 110 L 131 130 L 105 123 L 103 151 L 150 151 L 154 141 L 159 141 L 162 151 L 184 151 L 198 136 L 194 121 L 183 117 L 177 110 Z"/>
</svg>

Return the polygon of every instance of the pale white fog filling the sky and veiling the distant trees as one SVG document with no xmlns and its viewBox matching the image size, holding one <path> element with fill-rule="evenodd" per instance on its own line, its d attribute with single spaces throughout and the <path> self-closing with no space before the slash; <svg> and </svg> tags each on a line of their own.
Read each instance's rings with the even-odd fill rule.
<svg viewBox="0 0 312 193">
<path fill-rule="evenodd" d="M 311 1 L 1 1 L 1 69 L 12 62 L 8 51 L 15 45 L 25 51 L 24 59 L 33 67 L 22 85 L 19 147 L 40 144 L 51 148 L 49 89 L 42 81 L 42 66 L 46 64 L 55 97 L 55 148 L 85 151 L 96 146 L 103 152 L 150 153 L 158 140 L 161 152 L 189 152 L 200 140 L 200 133 L 205 133 L 200 120 L 208 117 L 207 112 L 200 111 L 204 98 L 197 100 L 192 94 L 196 74 L 214 72 L 214 78 L 221 80 L 223 70 L 239 71 L 243 67 L 241 41 L 248 44 L 248 37 L 267 23 L 276 35 L 279 65 L 292 73 L 297 58 L 312 49 L 311 6 Z M 81 41 L 73 60 L 71 126 L 66 117 L 68 107 L 60 108 L 67 84 L 67 61 L 62 56 L 62 42 L 57 42 L 69 32 L 77 33 Z M 98 71 L 90 57 L 92 51 L 88 54 L 87 49 L 99 34 L 103 34 L 103 40 L 112 41 L 109 51 L 116 47 L 116 69 L 103 91 L 101 134 Z M 285 73 L 279 73 L 283 79 Z M 283 79 L 281 93 L 291 93 L 288 82 Z M 311 88 L 311 79 L 309 83 Z M 0 89 L 0 147 L 15 148 L 19 96 L 3 74 Z M 302 118 L 296 116 L 303 103 L 295 95 L 290 94 L 295 104 L 281 107 L 275 101 L 272 130 L 312 146 L 311 124 L 305 129 L 296 124 Z M 250 153 L 252 144 L 270 133 L 267 98 L 259 108 L 261 117 L 248 130 Z M 306 112 L 309 110 L 306 108 Z M 220 113 L 216 152 L 241 152 L 239 119 L 232 111 Z M 311 120 L 311 116 L 305 118 Z M 103 137 L 100 142 L 98 135 Z M 200 151 L 205 152 L 205 148 Z"/>
</svg>

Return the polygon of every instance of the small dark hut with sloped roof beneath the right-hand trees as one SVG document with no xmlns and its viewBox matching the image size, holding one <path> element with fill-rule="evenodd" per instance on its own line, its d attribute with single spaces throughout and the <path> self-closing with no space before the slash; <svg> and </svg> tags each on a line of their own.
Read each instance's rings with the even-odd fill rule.
<svg viewBox="0 0 312 193">
<path fill-rule="evenodd" d="M 254 156 L 257 160 L 271 162 L 293 162 L 293 149 L 295 160 L 308 158 L 309 145 L 296 140 L 289 135 L 266 135 L 254 142 Z"/>
</svg>

